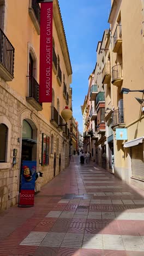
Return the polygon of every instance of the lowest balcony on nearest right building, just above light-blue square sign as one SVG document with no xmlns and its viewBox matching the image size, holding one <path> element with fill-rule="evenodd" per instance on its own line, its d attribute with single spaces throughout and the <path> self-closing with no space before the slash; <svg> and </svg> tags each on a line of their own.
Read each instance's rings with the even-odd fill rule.
<svg viewBox="0 0 144 256">
<path fill-rule="evenodd" d="M 125 127 L 124 123 L 124 109 L 119 108 L 114 110 L 112 113 L 112 129 L 115 131 L 116 128 L 123 128 Z"/>
</svg>

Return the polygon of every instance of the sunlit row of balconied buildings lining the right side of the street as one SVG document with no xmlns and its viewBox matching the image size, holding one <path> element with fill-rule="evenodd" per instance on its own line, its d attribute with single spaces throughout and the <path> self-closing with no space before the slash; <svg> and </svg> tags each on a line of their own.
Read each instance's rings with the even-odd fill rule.
<svg viewBox="0 0 144 256">
<path fill-rule="evenodd" d="M 129 10 L 129 11 L 128 11 Z M 144 2 L 112 0 L 110 26 L 83 102 L 83 142 L 92 161 L 144 189 Z M 133 28 L 133 29 L 131 29 Z"/>
</svg>

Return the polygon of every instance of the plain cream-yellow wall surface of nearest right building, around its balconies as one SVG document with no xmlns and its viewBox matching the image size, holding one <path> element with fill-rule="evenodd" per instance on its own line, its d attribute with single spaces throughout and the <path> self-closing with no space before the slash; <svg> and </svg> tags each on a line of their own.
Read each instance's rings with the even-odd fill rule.
<svg viewBox="0 0 144 256">
<path fill-rule="evenodd" d="M 111 52 L 112 66 L 122 63 L 123 82 L 120 86 L 112 85 L 112 101 L 115 109 L 118 109 L 118 100 L 123 97 L 125 127 L 128 132 L 128 141 L 143 136 L 144 119 L 141 105 L 135 97 L 142 98 L 141 92 L 129 92 L 121 94 L 122 88 L 130 90 L 143 90 L 143 1 L 127 0 L 115 1 L 116 9 L 111 14 L 112 49 L 113 34 L 121 17 L 122 25 L 122 49 L 118 53 Z M 115 132 L 114 132 L 115 135 Z M 115 138 L 115 136 L 114 136 Z M 129 182 L 131 160 L 128 160 L 127 149 L 123 148 L 126 141 L 114 142 L 115 173 Z"/>
</svg>

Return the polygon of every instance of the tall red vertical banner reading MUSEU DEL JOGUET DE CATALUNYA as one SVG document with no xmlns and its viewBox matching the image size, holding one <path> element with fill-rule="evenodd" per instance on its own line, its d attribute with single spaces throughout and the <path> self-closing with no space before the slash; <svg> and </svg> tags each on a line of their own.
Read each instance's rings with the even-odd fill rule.
<svg viewBox="0 0 144 256">
<path fill-rule="evenodd" d="M 52 5 L 41 3 L 39 102 L 52 102 Z"/>
</svg>

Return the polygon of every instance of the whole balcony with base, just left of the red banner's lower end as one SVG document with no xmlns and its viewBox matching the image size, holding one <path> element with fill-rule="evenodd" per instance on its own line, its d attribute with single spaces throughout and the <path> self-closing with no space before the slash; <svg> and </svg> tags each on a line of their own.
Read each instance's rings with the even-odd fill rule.
<svg viewBox="0 0 144 256">
<path fill-rule="evenodd" d="M 28 77 L 28 84 L 29 84 L 29 96 L 26 97 L 26 100 L 36 110 L 41 111 L 43 107 L 42 107 L 42 103 L 39 102 L 39 84 L 34 79 L 34 77 Z"/>
</svg>

